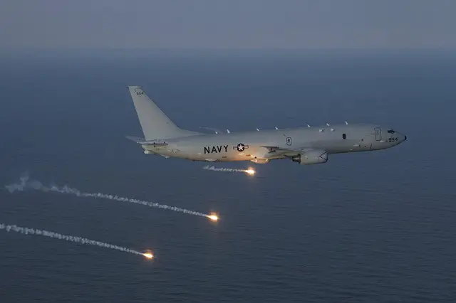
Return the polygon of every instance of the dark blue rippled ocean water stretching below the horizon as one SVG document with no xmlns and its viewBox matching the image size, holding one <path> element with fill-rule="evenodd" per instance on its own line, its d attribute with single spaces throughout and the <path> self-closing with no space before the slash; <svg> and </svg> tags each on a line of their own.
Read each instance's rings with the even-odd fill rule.
<svg viewBox="0 0 456 303">
<path fill-rule="evenodd" d="M 1 302 L 455 302 L 456 56 L 448 53 L 16 53 L 0 60 Z M 356 122 L 407 135 L 326 164 L 142 154 L 126 85 L 187 129 Z M 215 211 L 220 220 L 43 184 Z"/>
</svg>

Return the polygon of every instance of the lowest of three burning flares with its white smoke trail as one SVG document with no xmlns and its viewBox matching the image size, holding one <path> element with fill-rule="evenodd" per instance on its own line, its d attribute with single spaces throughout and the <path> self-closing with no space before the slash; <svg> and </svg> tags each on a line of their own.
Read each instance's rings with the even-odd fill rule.
<svg viewBox="0 0 456 303">
<path fill-rule="evenodd" d="M 99 246 L 100 248 L 110 248 L 113 250 L 130 252 L 135 255 L 144 255 L 145 257 L 147 257 L 147 255 L 148 255 L 143 252 L 138 252 L 136 250 L 130 250 L 130 248 L 123 248 L 123 247 L 120 247 L 117 245 L 112 245 L 109 243 L 103 243 L 100 241 L 90 240 L 88 238 L 76 237 L 74 235 L 62 235 L 61 233 L 54 233 L 53 231 L 48 231 L 48 230 L 24 228 L 24 227 L 20 227 L 17 225 L 5 225 L 4 223 L 0 223 L 0 230 L 6 230 L 6 232 L 10 232 L 12 230 L 12 231 L 15 231 L 16 233 L 22 233 L 24 235 L 43 235 L 44 237 L 48 237 L 48 238 L 66 240 L 66 241 L 81 243 L 81 244 L 86 244 L 86 245 L 96 245 L 96 246 Z"/>
</svg>

